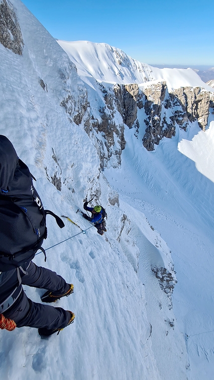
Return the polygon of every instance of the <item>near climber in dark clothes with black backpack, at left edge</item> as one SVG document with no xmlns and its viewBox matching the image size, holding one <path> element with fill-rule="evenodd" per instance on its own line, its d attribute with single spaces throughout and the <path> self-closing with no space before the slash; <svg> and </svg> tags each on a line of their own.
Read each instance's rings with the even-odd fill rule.
<svg viewBox="0 0 214 380">
<path fill-rule="evenodd" d="M 71 294 L 73 285 L 31 261 L 36 252 L 32 247 L 39 242 L 40 234 L 46 237 L 44 210 L 31 177 L 11 142 L 0 135 L 0 314 L 13 320 L 17 327 L 36 327 L 41 336 L 48 336 L 73 322 L 75 314 L 33 302 L 22 285 L 47 289 L 41 296 L 43 302 L 55 302 Z M 35 216 L 40 230 L 24 228 L 29 225 L 30 216 Z M 20 253 L 24 259 L 19 265 Z"/>
</svg>

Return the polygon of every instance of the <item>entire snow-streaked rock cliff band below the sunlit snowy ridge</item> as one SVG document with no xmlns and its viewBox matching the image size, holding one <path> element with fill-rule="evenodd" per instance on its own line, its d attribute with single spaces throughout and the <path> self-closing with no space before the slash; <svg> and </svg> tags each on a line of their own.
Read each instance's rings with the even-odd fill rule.
<svg viewBox="0 0 214 380">
<path fill-rule="evenodd" d="M 68 76 L 64 77 L 64 82 L 68 82 Z M 104 83 L 98 82 L 96 86 L 99 108 L 91 106 L 84 86 L 77 86 L 78 96 L 73 96 L 67 89 L 61 105 L 71 122 L 80 125 L 83 121 L 90 138 L 94 136 L 101 169 L 110 160 L 113 167 L 120 165 L 121 152 L 126 144 L 124 124 L 134 127 L 134 136 L 138 138 L 141 128 L 137 118 L 139 109 L 143 108 L 146 116 L 142 143 L 148 151 L 153 151 L 164 137 L 175 136 L 176 127 L 186 131 L 191 123 L 198 121 L 200 128 L 205 130 L 210 112 L 214 113 L 214 94 L 199 87 L 182 87 L 169 93 L 166 82 L 142 88 L 137 84 L 105 87 Z"/>
</svg>

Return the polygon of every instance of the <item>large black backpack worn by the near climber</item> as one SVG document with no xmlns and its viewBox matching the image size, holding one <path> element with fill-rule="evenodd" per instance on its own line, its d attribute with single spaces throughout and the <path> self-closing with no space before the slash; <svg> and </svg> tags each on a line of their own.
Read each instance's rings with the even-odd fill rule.
<svg viewBox="0 0 214 380">
<path fill-rule="evenodd" d="M 14 152 L 10 141 L 0 136 L 0 272 L 32 260 L 38 249 L 44 252 L 47 214 L 64 227 L 57 215 L 44 210 L 32 183 L 34 177 Z"/>
</svg>

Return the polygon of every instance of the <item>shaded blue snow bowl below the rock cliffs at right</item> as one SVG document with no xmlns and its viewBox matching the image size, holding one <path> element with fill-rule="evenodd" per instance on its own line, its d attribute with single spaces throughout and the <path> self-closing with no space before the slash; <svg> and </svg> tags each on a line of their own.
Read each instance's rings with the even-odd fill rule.
<svg viewBox="0 0 214 380">
<path fill-rule="evenodd" d="M 188 379 L 193 380 L 213 379 L 214 371 L 213 131 L 214 121 L 194 138 L 193 131 L 177 130 L 176 137 L 161 141 L 155 152 L 148 153 L 140 147 L 142 135 L 136 140 L 134 131 L 127 130 L 129 148 L 122 153 L 121 169 L 105 171 L 120 199 L 141 210 L 172 250 L 178 279 L 173 293 L 175 325 L 185 338 Z M 141 272 L 138 275 L 141 278 Z M 147 285 L 144 276 L 143 281 Z M 153 298 L 158 303 L 158 296 L 150 284 L 147 289 L 147 313 L 152 321 L 156 317 Z M 151 335 L 156 358 L 159 337 L 159 333 L 158 337 Z M 166 358 L 161 360 L 166 364 Z"/>
</svg>

